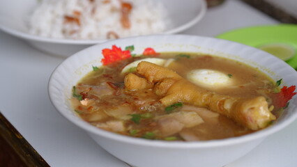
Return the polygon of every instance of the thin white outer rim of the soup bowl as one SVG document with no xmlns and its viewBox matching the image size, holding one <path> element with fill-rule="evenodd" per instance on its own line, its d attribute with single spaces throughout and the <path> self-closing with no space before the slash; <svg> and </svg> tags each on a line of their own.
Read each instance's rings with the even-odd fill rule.
<svg viewBox="0 0 297 167">
<path fill-rule="evenodd" d="M 229 44 L 231 43 L 236 43 L 236 45 L 241 45 L 244 47 L 249 47 L 250 49 L 254 49 L 255 51 L 261 51 L 257 48 L 254 47 L 250 47 L 248 45 L 243 45 L 240 44 L 238 42 L 232 42 L 229 40 L 222 40 L 219 38 L 211 38 L 211 37 L 204 37 L 204 36 L 199 36 L 199 35 L 146 35 L 146 36 L 138 36 L 138 37 L 129 37 L 129 38 L 121 38 L 118 40 L 129 40 L 131 38 L 146 38 L 146 37 L 158 37 L 158 36 L 174 36 L 176 38 L 178 37 L 198 37 L 198 38 L 205 38 L 205 39 L 213 39 L 213 40 L 217 40 L 217 41 L 222 41 L 222 42 L 229 42 Z M 113 43 L 114 41 L 108 41 L 105 42 L 107 44 L 109 43 Z M 102 45 L 102 44 L 98 44 L 98 45 Z M 88 47 L 86 49 L 83 49 L 82 51 L 77 52 L 76 54 L 73 54 L 72 56 L 69 56 L 68 58 L 66 58 L 66 60 L 64 60 L 63 62 L 61 62 L 52 72 L 51 76 L 50 76 L 50 80 L 48 82 L 48 87 L 47 87 L 47 91 L 49 93 L 50 96 L 50 101 L 52 102 L 54 108 L 56 109 L 56 111 L 58 111 L 64 118 L 66 118 L 67 120 L 69 120 L 70 122 L 73 122 L 75 125 L 77 125 L 79 128 L 86 130 L 86 132 L 89 132 L 91 134 L 96 134 L 99 136 L 102 136 L 104 138 L 108 138 L 109 140 L 114 140 L 114 141 L 120 141 L 122 143 L 130 143 L 132 145 L 142 145 L 142 146 L 147 146 L 147 147 L 158 147 L 158 148 L 187 148 L 187 149 L 195 149 L 195 148 L 213 148 L 213 147 L 222 147 L 222 146 L 227 146 L 227 145 L 236 145 L 236 144 L 241 144 L 241 143 L 245 143 L 245 142 L 249 142 L 249 141 L 256 141 L 257 139 L 264 139 L 267 136 L 280 131 L 281 129 L 283 129 L 284 127 L 287 127 L 287 125 L 291 124 L 291 122 L 294 122 L 294 120 L 296 120 L 297 118 L 297 112 L 296 110 L 294 110 L 295 112 L 289 117 L 286 118 L 285 121 L 282 122 L 278 122 L 277 125 L 272 125 L 270 127 L 267 127 L 265 129 L 261 129 L 258 132 L 254 132 L 252 134 L 245 134 L 243 136 L 237 136 L 237 137 L 231 137 L 231 138 L 223 138 L 223 139 L 217 139 L 217 140 L 209 140 L 209 141 L 160 141 L 160 140 L 148 140 L 148 139 L 144 139 L 144 138 L 134 138 L 134 137 L 130 137 L 130 136 L 124 136 L 121 134 L 115 134 L 114 132 L 107 132 L 103 129 L 99 129 L 98 127 L 94 127 L 93 125 L 90 125 L 88 122 L 85 122 L 84 120 L 82 120 L 81 118 L 76 119 L 73 116 L 70 116 L 70 114 L 66 114 L 65 112 L 60 111 L 59 106 L 55 105 L 55 100 L 53 98 L 53 94 L 52 94 L 52 88 L 53 86 L 53 80 L 54 77 L 56 75 L 56 73 L 59 71 L 59 68 L 61 68 L 63 66 L 63 63 L 66 63 L 66 61 L 68 61 L 71 58 L 75 58 L 76 56 L 79 56 L 80 54 L 84 53 L 84 51 L 86 51 L 87 49 L 91 49 L 93 47 L 98 47 L 98 45 L 93 45 L 91 47 Z M 272 56 L 271 54 L 266 53 L 265 51 L 261 51 L 264 54 L 270 55 L 271 57 L 273 57 L 276 61 L 281 61 L 278 58 L 275 58 L 275 56 Z M 287 65 L 287 68 L 291 68 L 289 65 Z M 291 70 L 294 70 L 293 68 L 291 68 Z M 296 97 L 294 98 L 296 99 Z M 295 102 L 295 101 L 294 101 Z M 78 116 L 77 116 L 78 118 Z"/>
</svg>

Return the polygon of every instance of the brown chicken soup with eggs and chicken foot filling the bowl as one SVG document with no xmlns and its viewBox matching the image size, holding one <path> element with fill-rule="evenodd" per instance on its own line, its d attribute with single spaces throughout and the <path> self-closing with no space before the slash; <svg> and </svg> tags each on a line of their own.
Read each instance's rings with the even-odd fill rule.
<svg viewBox="0 0 297 167">
<path fill-rule="evenodd" d="M 91 125 L 126 136 L 206 141 L 271 125 L 294 96 L 248 65 L 197 53 L 103 49 L 102 66 L 73 86 L 71 102 Z"/>
</svg>

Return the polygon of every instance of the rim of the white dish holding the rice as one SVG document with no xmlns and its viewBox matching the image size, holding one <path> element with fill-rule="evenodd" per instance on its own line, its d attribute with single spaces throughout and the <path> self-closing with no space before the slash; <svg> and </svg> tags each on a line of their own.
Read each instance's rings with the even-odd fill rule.
<svg viewBox="0 0 297 167">
<path fill-rule="evenodd" d="M 204 0 L 197 0 L 197 1 L 199 1 L 198 3 L 200 5 L 198 15 L 195 15 L 195 17 L 190 19 L 185 24 L 176 26 L 172 29 L 168 29 L 168 30 L 158 33 L 158 34 L 178 33 L 178 32 L 184 31 L 185 29 L 188 29 L 191 26 L 194 26 L 195 24 L 197 24 L 197 22 L 199 22 L 199 20 L 201 20 L 204 17 L 204 15 L 206 14 L 206 10 L 207 10 L 206 1 L 204 1 Z M 0 22 L 0 30 L 4 31 L 10 35 L 14 35 L 16 37 L 23 38 L 26 40 L 34 40 L 34 41 L 39 41 L 39 42 L 56 43 L 56 44 L 95 45 L 98 43 L 109 41 L 109 40 L 96 40 L 96 39 L 94 39 L 94 40 L 72 40 L 72 39 L 64 39 L 64 38 L 48 38 L 48 37 L 43 37 L 40 35 L 32 35 L 30 33 L 25 33 L 22 31 L 15 30 L 15 29 L 9 29 L 8 27 L 1 24 L 1 22 Z M 130 37 L 136 37 L 136 36 L 130 36 Z"/>
</svg>

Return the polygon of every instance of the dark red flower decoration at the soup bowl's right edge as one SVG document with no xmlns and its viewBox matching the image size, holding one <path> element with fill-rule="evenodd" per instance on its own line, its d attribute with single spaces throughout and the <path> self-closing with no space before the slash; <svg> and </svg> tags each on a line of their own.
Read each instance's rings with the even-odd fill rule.
<svg viewBox="0 0 297 167">
<path fill-rule="evenodd" d="M 275 96 L 275 107 L 287 106 L 289 100 L 291 100 L 291 98 L 296 95 L 296 93 L 294 93 L 295 89 L 296 86 L 290 86 L 289 88 L 287 88 L 287 86 L 282 87 L 280 92 Z"/>
</svg>

